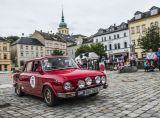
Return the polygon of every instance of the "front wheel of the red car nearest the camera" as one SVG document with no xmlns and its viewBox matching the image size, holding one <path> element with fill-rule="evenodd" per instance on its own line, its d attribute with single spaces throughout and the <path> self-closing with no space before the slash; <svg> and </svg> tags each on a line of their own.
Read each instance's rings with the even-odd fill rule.
<svg viewBox="0 0 160 118">
<path fill-rule="evenodd" d="M 44 102 L 49 107 L 53 107 L 58 104 L 58 98 L 55 96 L 52 89 L 48 86 L 46 86 L 43 90 L 43 98 Z"/>
</svg>

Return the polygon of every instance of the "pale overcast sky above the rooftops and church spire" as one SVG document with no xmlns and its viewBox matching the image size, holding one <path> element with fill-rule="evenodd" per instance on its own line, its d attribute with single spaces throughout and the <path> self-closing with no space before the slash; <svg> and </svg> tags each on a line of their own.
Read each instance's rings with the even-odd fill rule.
<svg viewBox="0 0 160 118">
<path fill-rule="evenodd" d="M 70 34 L 92 35 L 160 7 L 160 0 L 0 0 L 0 36 L 26 36 L 35 30 L 57 32 L 62 4 Z"/>
</svg>

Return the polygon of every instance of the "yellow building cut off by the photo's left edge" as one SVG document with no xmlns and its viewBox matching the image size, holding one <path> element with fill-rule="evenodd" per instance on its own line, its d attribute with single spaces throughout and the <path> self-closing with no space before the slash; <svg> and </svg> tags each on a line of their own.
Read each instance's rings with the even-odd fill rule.
<svg viewBox="0 0 160 118">
<path fill-rule="evenodd" d="M 10 43 L 0 37 L 0 71 L 11 70 Z"/>
</svg>

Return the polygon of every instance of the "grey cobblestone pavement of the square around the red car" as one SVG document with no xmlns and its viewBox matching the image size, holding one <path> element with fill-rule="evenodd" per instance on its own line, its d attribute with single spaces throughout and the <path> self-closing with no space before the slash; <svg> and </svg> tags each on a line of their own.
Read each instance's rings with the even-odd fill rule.
<svg viewBox="0 0 160 118">
<path fill-rule="evenodd" d="M 42 99 L 0 89 L 0 99 L 10 105 L 0 108 L 0 118 L 160 118 L 160 72 L 108 74 L 109 88 L 98 96 L 62 100 L 47 107 Z"/>
</svg>

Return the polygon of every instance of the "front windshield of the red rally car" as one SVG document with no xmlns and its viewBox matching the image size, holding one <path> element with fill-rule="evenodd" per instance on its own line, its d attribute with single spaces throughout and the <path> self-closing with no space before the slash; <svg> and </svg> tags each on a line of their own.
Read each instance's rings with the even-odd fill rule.
<svg viewBox="0 0 160 118">
<path fill-rule="evenodd" d="M 44 71 L 78 68 L 77 64 L 70 57 L 52 57 L 42 61 Z"/>
</svg>

